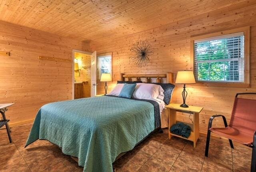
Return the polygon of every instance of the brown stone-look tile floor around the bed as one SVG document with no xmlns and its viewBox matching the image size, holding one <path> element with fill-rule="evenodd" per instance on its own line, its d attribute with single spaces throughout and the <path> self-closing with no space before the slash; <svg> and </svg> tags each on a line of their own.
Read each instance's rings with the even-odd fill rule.
<svg viewBox="0 0 256 172">
<path fill-rule="evenodd" d="M 0 130 L 0 172 L 82 172 L 83 168 L 48 141 L 36 141 L 24 149 L 32 124 L 12 128 L 10 144 Z M 114 163 L 116 172 L 250 172 L 251 150 L 211 140 L 204 156 L 205 137 L 197 147 L 173 137 L 167 130 L 155 133 Z"/>
</svg>

